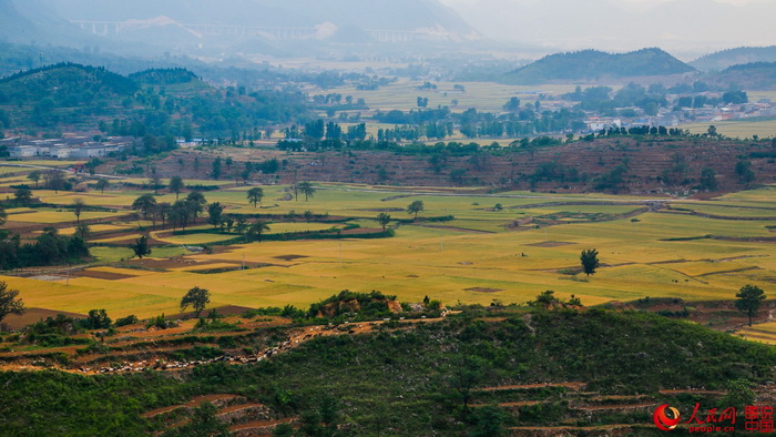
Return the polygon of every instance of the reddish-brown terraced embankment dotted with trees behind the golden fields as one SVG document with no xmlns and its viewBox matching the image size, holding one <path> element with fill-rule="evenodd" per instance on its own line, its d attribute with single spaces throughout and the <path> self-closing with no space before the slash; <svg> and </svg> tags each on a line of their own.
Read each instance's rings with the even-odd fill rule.
<svg viewBox="0 0 776 437">
<path fill-rule="evenodd" d="M 506 144 L 507 140 L 501 142 Z M 534 151 L 503 152 L 499 155 L 483 152 L 483 157 L 478 160 L 472 160 L 471 156 L 448 156 L 439 172 L 431 169 L 428 155 L 398 155 L 378 151 L 292 153 L 282 156 L 280 161 L 284 165 L 279 172 L 267 175 L 256 174 L 253 179 L 255 182 L 270 184 L 313 180 L 406 186 L 490 185 L 512 189 L 533 187 L 539 191 L 584 192 L 595 190 L 598 176 L 624 165 L 626 170 L 622 175 L 622 182 L 616 185 L 617 192 L 661 194 L 691 191 L 698 184 L 703 169 L 711 167 L 717 174 L 719 192 L 732 192 L 745 187 L 735 172 L 739 156 L 769 151 L 769 144 L 765 143 L 752 144 L 709 139 L 614 138 Z M 239 162 L 234 165 L 242 165 L 242 160 L 256 162 L 272 157 L 278 157 L 278 152 L 251 150 L 236 157 Z M 183 171 L 178 159 L 184 160 Z M 200 166 L 195 171 L 194 154 L 181 151 L 160 162 L 157 169 L 164 177 L 180 174 L 190 179 L 207 179 L 210 161 L 213 159 L 206 155 L 198 156 Z M 676 160 L 682 160 L 686 170 L 677 166 Z M 751 161 L 756 183 L 776 181 L 776 165 L 769 164 L 767 157 L 753 157 Z M 544 177 L 531 186 L 530 176 L 537 173 L 537 169 L 549 163 L 558 164 L 555 170 L 562 166 L 565 176 L 551 174 L 552 180 Z M 579 177 L 569 173 L 571 169 L 574 169 Z M 450 173 L 453 171 L 464 171 L 464 175 L 451 181 Z"/>
</svg>

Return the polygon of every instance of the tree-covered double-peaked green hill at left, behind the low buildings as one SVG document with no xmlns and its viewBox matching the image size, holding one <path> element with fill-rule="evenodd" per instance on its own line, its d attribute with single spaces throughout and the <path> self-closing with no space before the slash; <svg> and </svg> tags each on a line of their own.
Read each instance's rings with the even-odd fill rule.
<svg viewBox="0 0 776 437">
<path fill-rule="evenodd" d="M 304 119 L 307 111 L 302 93 L 218 89 L 185 69 L 124 77 L 104 68 L 61 63 L 0 79 L 0 132 L 7 134 L 100 128 L 118 135 L 236 139 Z M 131 125 L 137 129 L 122 128 Z"/>
</svg>

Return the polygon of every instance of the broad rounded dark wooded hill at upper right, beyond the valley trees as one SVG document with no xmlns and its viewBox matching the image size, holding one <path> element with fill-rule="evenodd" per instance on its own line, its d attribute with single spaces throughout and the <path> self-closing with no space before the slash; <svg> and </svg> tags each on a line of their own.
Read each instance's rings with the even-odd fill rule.
<svg viewBox="0 0 776 437">
<path fill-rule="evenodd" d="M 506 74 L 502 81 L 513 84 L 534 84 L 557 80 L 667 75 L 691 71 L 694 71 L 694 68 L 661 49 L 642 49 L 629 53 L 584 50 L 542 58 Z"/>
</svg>

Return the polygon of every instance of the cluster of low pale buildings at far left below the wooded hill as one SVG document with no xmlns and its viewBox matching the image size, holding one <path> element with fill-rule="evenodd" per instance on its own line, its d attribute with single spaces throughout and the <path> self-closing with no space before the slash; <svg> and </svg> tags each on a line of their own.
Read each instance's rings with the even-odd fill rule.
<svg viewBox="0 0 776 437">
<path fill-rule="evenodd" d="M 93 138 L 71 136 L 48 140 L 24 140 L 11 138 L 0 140 L 12 159 L 50 157 L 50 159 L 92 159 L 104 157 L 134 144 L 132 136 L 109 138 L 94 141 Z"/>
</svg>

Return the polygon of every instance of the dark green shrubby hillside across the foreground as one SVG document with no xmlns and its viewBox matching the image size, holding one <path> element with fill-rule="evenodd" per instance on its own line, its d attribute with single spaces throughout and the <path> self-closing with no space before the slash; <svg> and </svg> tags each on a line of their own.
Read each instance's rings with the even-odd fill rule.
<svg viewBox="0 0 776 437">
<path fill-rule="evenodd" d="M 558 309 L 477 318 L 484 313 L 464 311 L 443 322 L 413 325 L 394 322 L 368 334 L 348 335 L 348 326 L 340 325 L 339 335 L 310 339 L 248 365 L 215 363 L 183 372 L 112 376 L 1 373 L 3 398 L 13 402 L 0 403 L 0 423 L 11 435 L 54 430 L 139 435 L 171 426 L 162 419 L 142 419 L 144 411 L 195 396 L 232 394 L 279 416 L 299 417 L 299 435 L 498 435 L 498 429 L 519 426 L 646 427 L 653 403 L 671 402 L 686 410 L 696 402 L 708 408 L 733 402 L 701 393 L 660 394 L 661 389 L 724 390 L 732 380 L 763 383 L 775 376 L 773 347 L 656 315 Z M 263 328 L 251 335 L 279 343 L 284 331 Z M 205 352 L 221 353 L 201 350 Z M 549 385 L 515 387 L 528 384 Z M 576 393 L 580 387 L 584 390 Z M 615 408 L 606 407 L 605 399 L 620 404 L 641 399 L 641 404 L 606 413 Z M 584 407 L 592 403 L 599 407 Z M 195 414 L 194 424 L 213 424 L 206 413 Z M 185 417 L 191 416 L 170 421 L 180 424 Z"/>
</svg>

